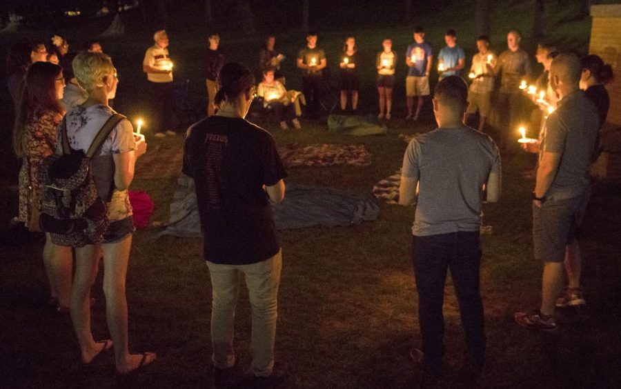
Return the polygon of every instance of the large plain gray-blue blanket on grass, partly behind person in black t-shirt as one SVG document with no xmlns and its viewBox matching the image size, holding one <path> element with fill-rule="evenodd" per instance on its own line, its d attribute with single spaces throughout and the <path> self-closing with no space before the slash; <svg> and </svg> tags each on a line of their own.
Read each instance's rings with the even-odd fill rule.
<svg viewBox="0 0 621 389">
<path fill-rule="evenodd" d="M 369 196 L 344 190 L 288 184 L 284 201 L 273 204 L 278 230 L 312 226 L 352 226 L 377 219 L 380 208 Z M 170 204 L 170 216 L 161 235 L 201 237 L 194 180 L 181 175 Z"/>
</svg>

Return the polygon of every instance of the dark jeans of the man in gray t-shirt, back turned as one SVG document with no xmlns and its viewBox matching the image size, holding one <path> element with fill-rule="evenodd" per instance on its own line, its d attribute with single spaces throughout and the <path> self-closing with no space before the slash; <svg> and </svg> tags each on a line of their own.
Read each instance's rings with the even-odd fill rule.
<svg viewBox="0 0 621 389">
<path fill-rule="evenodd" d="M 444 355 L 444 282 L 451 269 L 455 295 L 466 332 L 469 361 L 482 366 L 485 358 L 483 302 L 479 292 L 481 245 L 479 232 L 414 237 L 412 257 L 419 299 L 422 351 L 427 367 L 439 372 Z"/>
</svg>

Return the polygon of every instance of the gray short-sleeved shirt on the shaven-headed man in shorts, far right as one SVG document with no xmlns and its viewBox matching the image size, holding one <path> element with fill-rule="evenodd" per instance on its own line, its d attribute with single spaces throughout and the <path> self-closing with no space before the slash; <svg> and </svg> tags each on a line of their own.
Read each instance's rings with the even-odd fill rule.
<svg viewBox="0 0 621 389">
<path fill-rule="evenodd" d="M 584 193 L 599 128 L 598 109 L 582 90 L 559 101 L 541 133 L 540 159 L 546 151 L 562 154 L 546 197 L 571 199 Z"/>
</svg>

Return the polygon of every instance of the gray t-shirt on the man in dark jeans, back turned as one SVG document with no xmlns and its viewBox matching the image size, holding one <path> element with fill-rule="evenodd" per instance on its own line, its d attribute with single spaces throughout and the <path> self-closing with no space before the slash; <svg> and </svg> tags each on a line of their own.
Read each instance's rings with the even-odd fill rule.
<svg viewBox="0 0 621 389">
<path fill-rule="evenodd" d="M 473 128 L 437 128 L 412 139 L 401 173 L 419 185 L 412 234 L 479 230 L 491 172 L 500 173 L 496 143 Z"/>
</svg>

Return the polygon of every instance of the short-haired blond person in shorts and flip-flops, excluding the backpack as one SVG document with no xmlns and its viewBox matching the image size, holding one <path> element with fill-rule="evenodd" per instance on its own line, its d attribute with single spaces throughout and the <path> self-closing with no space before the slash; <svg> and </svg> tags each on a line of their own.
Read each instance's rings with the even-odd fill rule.
<svg viewBox="0 0 621 389">
<path fill-rule="evenodd" d="M 106 54 L 82 52 L 73 60 L 75 77 L 88 91 L 88 99 L 69 112 L 61 124 L 59 137 L 68 137 L 73 150 L 86 152 L 99 130 L 116 112 L 108 107 L 119 80 L 112 60 Z M 61 132 L 62 131 L 62 132 Z M 63 134 L 64 132 L 64 134 Z M 63 142 L 57 142 L 57 154 Z M 130 354 L 128 347 L 128 308 L 125 293 L 127 266 L 134 224 L 128 187 L 134 177 L 136 159 L 146 152 L 144 137 L 135 136 L 131 123 L 121 119 L 92 158 L 92 178 L 99 197 L 106 203 L 110 226 L 99 239 L 74 237 L 76 269 L 71 291 L 71 319 L 79 341 L 82 363 L 90 363 L 102 352 L 114 348 L 117 374 L 123 375 L 155 361 L 152 352 Z M 66 236 L 51 234 L 52 241 Z M 112 340 L 95 341 L 91 331 L 90 289 L 97 277 L 103 252 L 103 292 L 106 320 Z"/>
</svg>

